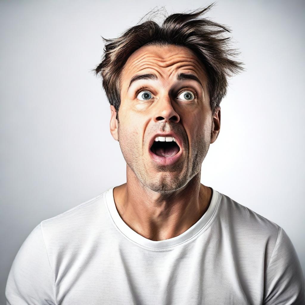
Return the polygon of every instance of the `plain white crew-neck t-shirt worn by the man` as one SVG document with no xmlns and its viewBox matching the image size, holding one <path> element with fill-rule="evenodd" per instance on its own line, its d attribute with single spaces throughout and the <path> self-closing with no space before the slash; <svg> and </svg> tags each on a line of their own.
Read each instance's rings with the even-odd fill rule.
<svg viewBox="0 0 305 305">
<path fill-rule="evenodd" d="M 7 304 L 304 304 L 286 232 L 212 190 L 199 221 L 161 241 L 127 226 L 113 188 L 42 221 L 13 262 Z"/>
</svg>

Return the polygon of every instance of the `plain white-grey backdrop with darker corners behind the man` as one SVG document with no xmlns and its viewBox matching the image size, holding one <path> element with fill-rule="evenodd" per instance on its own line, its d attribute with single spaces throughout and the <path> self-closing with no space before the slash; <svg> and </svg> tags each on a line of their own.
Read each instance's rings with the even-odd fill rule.
<svg viewBox="0 0 305 305">
<path fill-rule="evenodd" d="M 100 36 L 117 37 L 155 6 L 171 14 L 210 3 L 0 3 L 0 303 L 37 224 L 125 182 L 109 103 L 90 72 L 103 54 Z M 220 0 L 207 13 L 231 28 L 247 70 L 229 81 L 202 166 L 203 184 L 284 228 L 303 271 L 304 3 Z"/>
</svg>

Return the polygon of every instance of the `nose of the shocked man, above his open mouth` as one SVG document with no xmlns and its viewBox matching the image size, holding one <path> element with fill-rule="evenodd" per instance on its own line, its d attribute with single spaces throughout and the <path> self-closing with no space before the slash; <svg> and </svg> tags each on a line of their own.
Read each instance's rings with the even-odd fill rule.
<svg viewBox="0 0 305 305">
<path fill-rule="evenodd" d="M 178 113 L 173 108 L 170 97 L 167 95 L 159 99 L 158 106 L 156 108 L 154 120 L 155 122 L 174 122 L 178 123 L 180 121 L 180 117 Z"/>
</svg>

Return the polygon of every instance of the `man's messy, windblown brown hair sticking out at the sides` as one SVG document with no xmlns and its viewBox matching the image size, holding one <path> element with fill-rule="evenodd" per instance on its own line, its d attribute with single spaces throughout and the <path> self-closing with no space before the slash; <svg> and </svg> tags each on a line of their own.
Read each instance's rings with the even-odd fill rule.
<svg viewBox="0 0 305 305">
<path fill-rule="evenodd" d="M 220 23 L 199 18 L 214 4 L 191 13 L 172 14 L 161 26 L 147 20 L 129 28 L 118 38 L 102 37 L 105 41 L 104 55 L 93 71 L 102 77 L 102 86 L 110 105 L 117 110 L 117 119 L 121 71 L 128 57 L 144 45 L 181 45 L 191 49 L 206 68 L 210 107 L 214 114 L 227 93 L 227 78 L 245 70 L 242 62 L 234 60 L 240 52 L 230 48 L 231 38 L 223 35 L 231 33 L 231 30 Z"/>
</svg>

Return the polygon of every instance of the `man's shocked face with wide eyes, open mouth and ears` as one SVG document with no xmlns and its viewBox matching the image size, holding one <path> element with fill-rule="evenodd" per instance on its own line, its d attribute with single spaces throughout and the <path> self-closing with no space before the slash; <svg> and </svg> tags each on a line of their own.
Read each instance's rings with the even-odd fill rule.
<svg viewBox="0 0 305 305">
<path fill-rule="evenodd" d="M 131 82 L 143 74 L 152 75 Z M 185 74 L 192 74 L 198 81 Z M 155 192 L 172 192 L 185 186 L 200 172 L 210 143 L 219 132 L 219 128 L 213 131 L 204 67 L 186 47 L 143 46 L 125 63 L 120 85 L 119 124 L 110 106 L 110 130 L 120 143 L 127 165 L 143 185 Z M 178 145 L 168 142 L 170 138 L 154 141 L 158 135 L 171 133 Z"/>
</svg>

